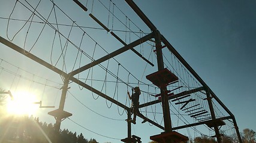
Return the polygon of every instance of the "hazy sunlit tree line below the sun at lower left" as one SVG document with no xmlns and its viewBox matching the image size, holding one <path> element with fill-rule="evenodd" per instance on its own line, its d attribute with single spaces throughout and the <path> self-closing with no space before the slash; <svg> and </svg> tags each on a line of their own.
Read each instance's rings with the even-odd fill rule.
<svg viewBox="0 0 256 143">
<path fill-rule="evenodd" d="M 34 117 L 1 117 L 0 142 L 19 143 L 98 143 L 96 139 L 85 139 L 83 134 L 77 135 L 68 129 L 56 131 L 52 123 L 42 123 Z"/>
</svg>

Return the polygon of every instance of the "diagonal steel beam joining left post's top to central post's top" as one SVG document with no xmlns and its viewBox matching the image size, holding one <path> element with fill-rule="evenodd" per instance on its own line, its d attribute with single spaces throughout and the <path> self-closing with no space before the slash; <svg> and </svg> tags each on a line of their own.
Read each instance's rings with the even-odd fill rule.
<svg viewBox="0 0 256 143">
<path fill-rule="evenodd" d="M 69 74 L 71 76 L 74 76 L 74 75 L 76 75 L 76 74 L 78 74 L 78 73 L 80 73 L 82 71 L 85 71 L 85 70 L 87 70 L 87 69 L 89 69 L 89 68 L 91 68 L 93 66 L 96 66 L 97 64 L 103 63 L 104 61 L 109 60 L 110 58 L 113 58 L 116 55 L 119 55 L 122 52 L 127 51 L 128 49 L 131 49 L 131 48 L 134 48 L 137 45 L 140 45 L 141 43 L 148 41 L 152 37 L 153 37 L 153 33 L 150 33 L 150 34 L 148 34 L 148 35 L 146 35 L 146 36 L 144 36 L 144 37 L 142 37 L 142 38 L 140 38 L 140 39 L 138 39 L 138 40 L 136 40 L 134 42 L 129 43 L 128 45 L 123 46 L 122 48 L 120 48 L 120 49 L 118 49 L 118 50 L 116 50 L 116 51 L 114 51 L 114 52 L 112 52 L 110 54 L 107 54 L 104 57 L 99 58 L 98 60 L 93 61 L 92 63 L 86 64 L 85 66 L 80 67 L 79 69 L 71 71 Z"/>
</svg>

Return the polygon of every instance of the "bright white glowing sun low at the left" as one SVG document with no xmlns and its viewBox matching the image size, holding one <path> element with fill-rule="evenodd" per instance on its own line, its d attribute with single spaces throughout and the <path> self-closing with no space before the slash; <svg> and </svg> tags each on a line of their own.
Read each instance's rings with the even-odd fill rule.
<svg viewBox="0 0 256 143">
<path fill-rule="evenodd" d="M 16 115 L 29 115 L 35 114 L 38 105 L 34 104 L 37 101 L 36 96 L 25 91 L 19 91 L 13 94 L 13 100 L 7 102 L 7 112 Z"/>
</svg>

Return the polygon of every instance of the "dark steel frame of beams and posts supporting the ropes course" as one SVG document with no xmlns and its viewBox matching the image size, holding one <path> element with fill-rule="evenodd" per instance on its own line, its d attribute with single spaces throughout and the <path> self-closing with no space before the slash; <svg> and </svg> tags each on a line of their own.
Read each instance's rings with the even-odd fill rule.
<svg viewBox="0 0 256 143">
<path fill-rule="evenodd" d="M 74 71 L 71 71 L 70 73 L 65 73 L 64 71 L 53 67 L 52 64 L 47 63 L 44 60 L 41 60 L 40 58 L 38 58 L 37 56 L 29 53 L 28 51 L 25 51 L 23 48 L 20 48 L 19 46 L 15 45 L 14 43 L 7 41 L 7 39 L 4 39 L 0 36 L 0 42 L 3 43 L 4 45 L 10 47 L 11 49 L 14 49 L 15 51 L 19 52 L 20 54 L 25 55 L 28 58 L 31 58 L 31 60 L 36 61 L 37 63 L 43 65 L 44 67 L 47 67 L 48 69 L 55 71 L 55 73 L 60 74 L 62 77 L 64 77 L 64 86 L 62 87 L 62 94 L 61 94 L 61 101 L 59 103 L 59 108 L 58 110 L 56 110 L 56 113 L 53 113 L 53 116 L 55 116 L 56 119 L 56 126 L 55 129 L 59 130 L 60 126 L 61 126 L 61 121 L 64 120 L 66 117 L 71 116 L 71 113 L 67 113 L 66 111 L 64 111 L 64 105 L 65 105 L 65 98 L 67 95 L 67 90 L 68 90 L 68 83 L 71 81 L 77 83 L 80 86 L 83 86 L 84 88 L 88 89 L 89 91 L 94 92 L 95 94 L 100 95 L 101 97 L 105 98 L 108 101 L 113 102 L 114 104 L 124 108 L 125 110 L 127 110 L 128 113 L 128 120 L 131 120 L 131 109 L 129 107 L 127 107 L 126 105 L 122 104 L 121 102 L 116 101 L 115 99 L 109 97 L 106 94 L 103 94 L 102 92 L 98 91 L 97 89 L 87 85 L 86 83 L 80 81 L 79 79 L 76 79 L 75 77 L 73 77 L 74 75 L 85 71 L 93 66 L 96 66 L 97 64 L 102 63 L 103 61 L 109 60 L 112 57 L 115 57 L 116 55 L 122 54 L 123 52 L 127 51 L 128 49 L 132 49 L 137 45 L 140 45 L 143 42 L 149 41 L 150 39 L 155 39 L 155 43 L 156 43 L 156 57 L 157 57 L 157 64 L 158 64 L 158 70 L 162 70 L 164 69 L 164 63 L 163 63 L 163 58 L 162 58 L 162 43 L 177 57 L 177 59 L 183 64 L 183 66 L 186 67 L 186 69 L 195 77 L 195 79 L 198 80 L 198 82 L 201 83 L 201 85 L 203 85 L 200 88 L 196 88 L 196 89 L 192 89 L 191 91 L 186 91 L 186 92 L 182 92 L 180 94 L 176 94 L 174 96 L 170 96 L 168 97 L 166 94 L 164 94 L 164 91 L 166 91 L 167 87 L 161 87 L 161 98 L 162 100 L 156 100 L 156 101 L 151 101 L 151 102 L 147 102 L 144 104 L 140 105 L 140 108 L 142 107 L 146 107 L 148 105 L 153 105 L 153 104 L 157 104 L 159 102 L 162 102 L 162 110 L 164 113 L 164 126 L 158 125 L 158 123 L 153 122 L 150 119 L 147 119 L 147 121 L 149 123 L 152 123 L 153 125 L 155 125 L 156 127 L 163 129 L 164 132 L 171 132 L 172 130 L 176 130 L 176 129 L 183 129 L 183 128 L 188 128 L 191 126 L 198 126 L 198 125 L 203 125 L 203 124 L 207 124 L 212 122 L 213 120 L 218 120 L 215 117 L 215 113 L 213 110 L 213 106 L 212 106 L 212 98 L 214 98 L 220 105 L 222 108 L 224 108 L 225 111 L 227 111 L 227 113 L 230 116 L 227 117 L 221 117 L 219 118 L 219 120 L 227 120 L 227 119 L 232 119 L 233 120 L 233 124 L 234 124 L 234 128 L 236 129 L 236 133 L 239 139 L 239 142 L 242 143 L 242 139 L 240 137 L 240 133 L 239 133 L 239 129 L 236 123 L 236 119 L 234 117 L 234 115 L 231 113 L 230 110 L 228 110 L 228 108 L 221 102 L 221 100 L 219 100 L 219 98 L 214 94 L 214 92 L 209 88 L 209 86 L 207 86 L 207 84 L 201 79 L 200 76 L 198 76 L 198 74 L 192 69 L 191 66 L 189 66 L 189 64 L 182 58 L 182 56 L 176 51 L 176 49 L 173 48 L 173 46 L 167 41 L 167 39 L 164 38 L 163 35 L 161 35 L 161 33 L 158 31 L 158 29 L 156 29 L 156 27 L 153 25 L 153 23 L 149 20 L 149 18 L 146 17 L 146 15 L 140 10 L 140 8 L 137 7 L 137 5 L 132 1 L 132 0 L 125 0 L 125 2 L 127 2 L 127 4 L 129 5 L 129 7 L 132 8 L 132 10 L 134 10 L 134 12 L 138 15 L 138 17 L 141 18 L 141 20 L 143 20 L 143 22 L 147 25 L 147 27 L 149 27 L 149 29 L 152 31 L 152 33 L 149 33 L 148 35 L 137 39 L 134 42 L 127 44 L 124 44 L 124 46 L 122 48 L 117 49 L 116 51 L 102 57 L 99 58 L 98 60 L 92 61 L 92 63 L 86 64 L 83 67 L 80 67 L 79 69 L 76 69 Z M 134 50 L 132 50 L 134 51 Z M 206 91 L 206 99 L 208 101 L 209 104 L 209 108 L 210 108 L 210 115 L 212 117 L 212 119 L 210 120 L 206 120 L 203 122 L 198 122 L 198 123 L 192 123 L 190 125 L 184 125 L 184 126 L 178 126 L 178 127 L 172 127 L 171 126 L 171 117 L 170 117 L 170 110 L 169 110 L 169 104 L 168 104 L 168 100 L 174 99 L 174 98 L 178 98 L 178 97 L 182 97 L 184 95 L 188 95 L 188 94 L 192 94 L 194 92 L 198 92 L 198 91 Z M 57 116 L 56 114 L 62 114 Z M 131 135 L 131 122 L 127 122 L 128 124 L 128 140 L 132 138 Z M 218 126 L 214 126 L 213 127 L 216 133 L 216 138 L 217 141 L 220 143 L 221 142 L 221 135 L 219 133 L 219 129 Z M 132 142 L 132 141 L 128 141 L 128 142 Z"/>
</svg>

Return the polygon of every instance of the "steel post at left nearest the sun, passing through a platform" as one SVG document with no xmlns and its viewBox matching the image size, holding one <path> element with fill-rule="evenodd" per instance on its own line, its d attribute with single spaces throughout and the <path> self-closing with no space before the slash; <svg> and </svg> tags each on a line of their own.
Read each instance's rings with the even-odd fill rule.
<svg viewBox="0 0 256 143">
<path fill-rule="evenodd" d="M 70 80 L 67 77 L 65 77 L 64 85 L 62 86 L 61 101 L 59 102 L 59 110 L 61 110 L 61 111 L 64 111 L 64 105 L 65 105 L 65 100 L 66 100 L 66 96 L 67 96 L 69 81 Z M 61 118 L 56 117 L 55 130 L 59 131 L 59 129 L 61 128 L 61 121 L 62 121 Z"/>
</svg>

